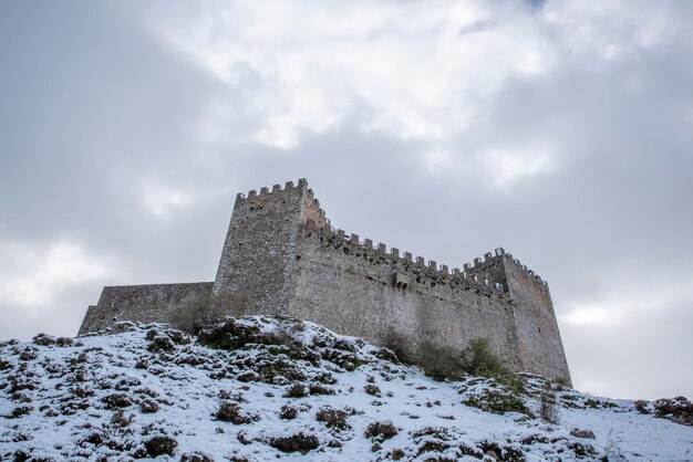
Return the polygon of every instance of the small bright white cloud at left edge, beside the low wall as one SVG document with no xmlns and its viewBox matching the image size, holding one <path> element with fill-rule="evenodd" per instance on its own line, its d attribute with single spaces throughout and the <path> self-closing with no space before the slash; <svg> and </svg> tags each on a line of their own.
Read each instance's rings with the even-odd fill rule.
<svg viewBox="0 0 693 462">
<path fill-rule="evenodd" d="M 66 240 L 46 246 L 29 242 L 0 242 L 0 303 L 32 309 L 74 286 L 105 277 L 111 259 L 93 255 Z"/>
</svg>

